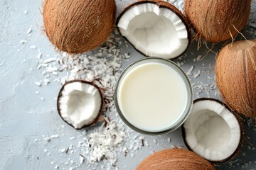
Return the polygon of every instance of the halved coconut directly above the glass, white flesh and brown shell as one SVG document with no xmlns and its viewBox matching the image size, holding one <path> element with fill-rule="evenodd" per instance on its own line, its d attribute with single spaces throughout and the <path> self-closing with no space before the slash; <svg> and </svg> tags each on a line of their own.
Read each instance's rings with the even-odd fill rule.
<svg viewBox="0 0 256 170">
<path fill-rule="evenodd" d="M 186 51 L 191 33 L 185 16 L 165 1 L 137 1 L 122 11 L 117 28 L 139 52 L 174 59 Z"/>
</svg>

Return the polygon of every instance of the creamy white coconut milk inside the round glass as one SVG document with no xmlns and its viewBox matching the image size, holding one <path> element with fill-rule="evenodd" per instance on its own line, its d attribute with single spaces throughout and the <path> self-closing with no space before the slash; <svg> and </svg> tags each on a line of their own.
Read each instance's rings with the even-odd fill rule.
<svg viewBox="0 0 256 170">
<path fill-rule="evenodd" d="M 124 118 L 149 132 L 176 125 L 188 103 L 188 89 L 181 75 L 159 62 L 130 70 L 120 81 L 117 94 Z"/>
</svg>

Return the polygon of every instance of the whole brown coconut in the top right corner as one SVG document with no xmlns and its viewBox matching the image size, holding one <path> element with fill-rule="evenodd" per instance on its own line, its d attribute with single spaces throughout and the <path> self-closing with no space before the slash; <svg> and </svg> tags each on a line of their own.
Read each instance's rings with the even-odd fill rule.
<svg viewBox="0 0 256 170">
<path fill-rule="evenodd" d="M 186 0 L 185 13 L 197 38 L 221 42 L 234 38 L 245 27 L 251 0 Z"/>
</svg>

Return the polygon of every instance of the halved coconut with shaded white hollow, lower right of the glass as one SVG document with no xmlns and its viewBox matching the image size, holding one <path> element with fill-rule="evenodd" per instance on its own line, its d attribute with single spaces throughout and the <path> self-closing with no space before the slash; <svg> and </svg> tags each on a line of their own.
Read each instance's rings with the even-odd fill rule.
<svg viewBox="0 0 256 170">
<path fill-rule="evenodd" d="M 242 144 L 239 119 L 218 100 L 199 98 L 183 124 L 186 145 L 212 162 L 223 162 L 238 153 Z"/>
</svg>

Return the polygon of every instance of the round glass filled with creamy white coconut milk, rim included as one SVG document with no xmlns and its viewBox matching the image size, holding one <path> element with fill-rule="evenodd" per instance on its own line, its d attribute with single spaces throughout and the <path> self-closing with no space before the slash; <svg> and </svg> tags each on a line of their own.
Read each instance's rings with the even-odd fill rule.
<svg viewBox="0 0 256 170">
<path fill-rule="evenodd" d="M 130 64 L 114 91 L 119 116 L 130 128 L 160 135 L 180 127 L 191 112 L 193 89 L 177 64 L 149 57 Z"/>
</svg>

